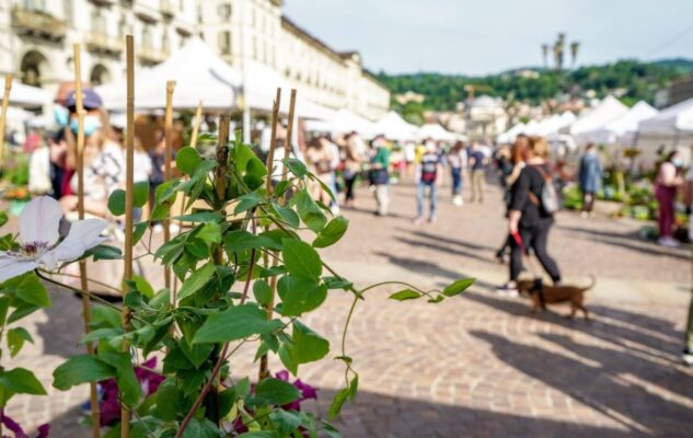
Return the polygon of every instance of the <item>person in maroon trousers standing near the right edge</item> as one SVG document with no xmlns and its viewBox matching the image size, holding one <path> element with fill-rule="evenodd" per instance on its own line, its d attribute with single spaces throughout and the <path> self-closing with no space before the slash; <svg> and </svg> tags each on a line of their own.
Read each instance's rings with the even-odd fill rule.
<svg viewBox="0 0 693 438">
<path fill-rule="evenodd" d="M 657 178 L 655 181 L 655 197 L 659 203 L 659 214 L 657 223 L 659 226 L 659 239 L 657 243 L 662 246 L 678 247 L 680 243 L 673 238 L 674 222 L 674 199 L 677 189 L 683 181 L 679 174 L 682 166 L 682 160 L 679 152 L 670 152 L 665 161 L 659 165 Z"/>
</svg>

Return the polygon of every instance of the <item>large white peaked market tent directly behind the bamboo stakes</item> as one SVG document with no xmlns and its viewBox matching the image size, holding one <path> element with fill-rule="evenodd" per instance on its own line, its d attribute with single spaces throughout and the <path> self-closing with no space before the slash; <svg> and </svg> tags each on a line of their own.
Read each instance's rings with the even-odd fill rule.
<svg viewBox="0 0 693 438">
<path fill-rule="evenodd" d="M 135 107 L 139 111 L 162 108 L 166 102 L 166 81 L 175 81 L 173 107 L 222 110 L 236 105 L 240 74 L 215 55 L 199 38 L 190 38 L 180 50 L 160 65 L 137 72 Z M 126 106 L 125 80 L 97 87 L 96 93 L 108 110 Z"/>
</svg>

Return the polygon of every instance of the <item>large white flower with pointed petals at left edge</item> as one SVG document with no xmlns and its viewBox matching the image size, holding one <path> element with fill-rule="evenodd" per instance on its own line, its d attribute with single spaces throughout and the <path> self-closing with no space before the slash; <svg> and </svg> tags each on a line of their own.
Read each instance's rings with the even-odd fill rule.
<svg viewBox="0 0 693 438">
<path fill-rule="evenodd" d="M 54 270 L 106 240 L 100 237 L 106 221 L 86 219 L 72 222 L 68 235 L 56 245 L 60 218 L 60 204 L 48 196 L 34 198 L 24 207 L 20 215 L 20 250 L 0 251 L 0 283 L 37 267 Z"/>
</svg>

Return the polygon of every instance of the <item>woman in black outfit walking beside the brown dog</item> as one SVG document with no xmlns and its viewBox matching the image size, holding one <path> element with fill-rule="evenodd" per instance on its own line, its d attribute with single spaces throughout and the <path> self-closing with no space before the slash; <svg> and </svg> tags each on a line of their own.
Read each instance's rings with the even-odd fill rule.
<svg viewBox="0 0 693 438">
<path fill-rule="evenodd" d="M 510 281 L 499 291 L 516 296 L 517 279 L 522 270 L 522 250 L 532 249 L 534 255 L 544 267 L 554 284 L 561 281 L 561 272 L 556 262 L 546 252 L 548 231 L 554 218 L 547 212 L 541 203 L 544 184 L 547 184 L 545 175 L 550 174 L 546 165 L 548 145 L 540 137 L 529 138 L 527 166 L 520 172 L 520 176 L 512 185 L 510 196 L 510 212 L 508 215 L 508 229 L 511 235 L 519 233 L 522 246 L 516 240 L 511 240 L 510 252 Z"/>
</svg>

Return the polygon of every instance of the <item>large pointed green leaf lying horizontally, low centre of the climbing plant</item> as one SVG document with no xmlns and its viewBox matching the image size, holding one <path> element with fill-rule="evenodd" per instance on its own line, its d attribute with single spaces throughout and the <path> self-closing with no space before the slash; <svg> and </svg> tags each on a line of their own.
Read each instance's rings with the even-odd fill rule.
<svg viewBox="0 0 693 438">
<path fill-rule="evenodd" d="M 195 333 L 193 344 L 222 343 L 262 335 L 281 326 L 280 321 L 267 321 L 265 311 L 246 303 L 212 313 Z"/>
</svg>

